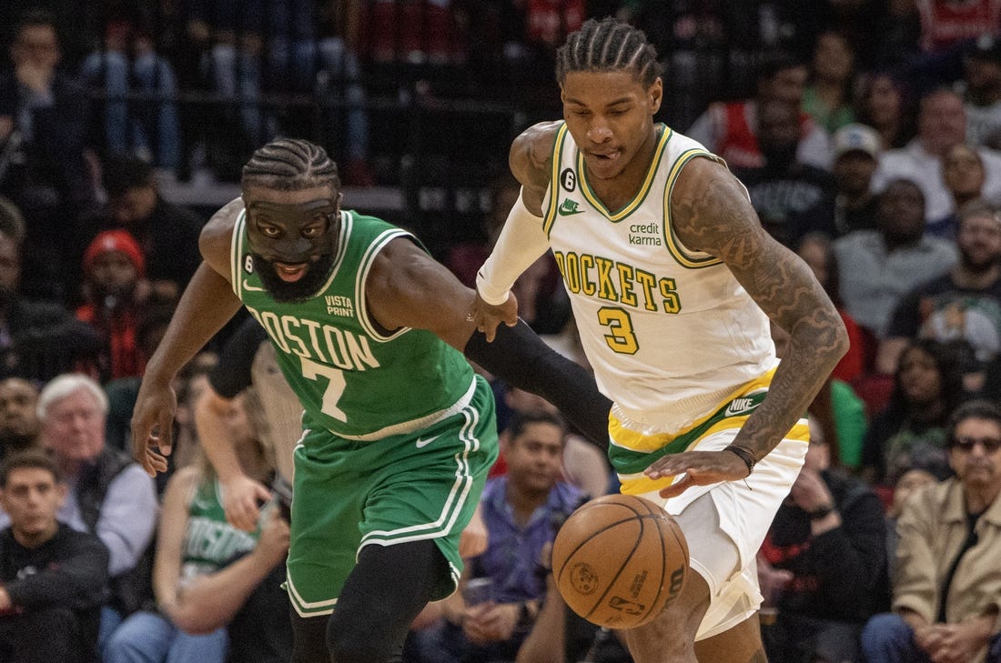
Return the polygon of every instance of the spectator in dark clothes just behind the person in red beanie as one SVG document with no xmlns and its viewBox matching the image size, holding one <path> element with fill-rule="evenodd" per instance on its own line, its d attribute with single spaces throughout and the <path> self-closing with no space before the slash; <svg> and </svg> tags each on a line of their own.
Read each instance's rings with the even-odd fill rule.
<svg viewBox="0 0 1001 663">
<path fill-rule="evenodd" d="M 81 264 L 87 245 L 102 231 L 127 230 L 146 256 L 146 277 L 154 296 L 176 299 L 201 262 L 198 233 L 204 221 L 164 200 L 153 167 L 137 157 L 106 159 L 102 184 L 108 201 L 81 220 L 74 264 Z"/>
</svg>

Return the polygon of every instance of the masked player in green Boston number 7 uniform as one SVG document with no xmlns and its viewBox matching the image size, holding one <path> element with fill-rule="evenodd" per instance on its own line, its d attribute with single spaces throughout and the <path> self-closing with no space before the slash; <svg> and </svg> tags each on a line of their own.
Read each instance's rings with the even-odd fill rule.
<svg viewBox="0 0 1001 663">
<path fill-rule="evenodd" d="M 454 590 L 459 535 L 497 454 L 491 392 L 463 352 L 598 440 L 611 403 L 524 323 L 486 343 L 472 290 L 409 233 L 340 208 L 322 148 L 273 141 L 241 185 L 203 229 L 204 261 L 146 367 L 133 452 L 150 474 L 166 470 L 171 380 L 245 306 L 304 408 L 286 578 L 293 660 L 388 661 L 424 604 Z"/>
</svg>

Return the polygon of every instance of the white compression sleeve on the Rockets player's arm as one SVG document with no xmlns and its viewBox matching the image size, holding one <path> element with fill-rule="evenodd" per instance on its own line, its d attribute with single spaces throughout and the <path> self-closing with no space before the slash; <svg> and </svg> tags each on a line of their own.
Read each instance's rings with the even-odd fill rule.
<svg viewBox="0 0 1001 663">
<path fill-rule="evenodd" d="M 503 304 L 518 277 L 549 248 L 543 218 L 530 212 L 519 195 L 493 251 L 476 273 L 479 296 L 487 304 Z"/>
</svg>

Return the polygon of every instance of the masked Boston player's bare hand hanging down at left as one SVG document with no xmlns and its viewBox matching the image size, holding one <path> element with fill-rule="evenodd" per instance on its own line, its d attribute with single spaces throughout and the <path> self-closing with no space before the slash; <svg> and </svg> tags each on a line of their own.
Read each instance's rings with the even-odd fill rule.
<svg viewBox="0 0 1001 663">
<path fill-rule="evenodd" d="M 176 410 L 177 394 L 169 382 L 143 379 L 132 410 L 132 457 L 151 477 L 167 471 Z"/>
</svg>

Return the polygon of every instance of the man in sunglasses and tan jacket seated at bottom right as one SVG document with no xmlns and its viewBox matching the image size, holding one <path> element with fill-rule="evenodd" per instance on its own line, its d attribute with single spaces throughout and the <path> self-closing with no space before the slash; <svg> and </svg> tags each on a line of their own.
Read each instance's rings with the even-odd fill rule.
<svg viewBox="0 0 1001 663">
<path fill-rule="evenodd" d="M 1001 661 L 1001 410 L 963 404 L 947 442 L 955 477 L 915 494 L 897 522 L 893 612 L 863 631 L 869 663 Z"/>
</svg>

